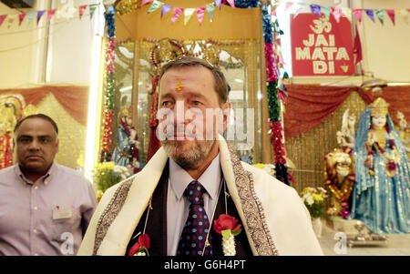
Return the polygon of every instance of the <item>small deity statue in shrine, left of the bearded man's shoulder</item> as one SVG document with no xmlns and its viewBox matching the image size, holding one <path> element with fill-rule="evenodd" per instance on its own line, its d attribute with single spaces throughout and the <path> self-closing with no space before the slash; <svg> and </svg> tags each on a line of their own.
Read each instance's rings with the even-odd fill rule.
<svg viewBox="0 0 410 274">
<path fill-rule="evenodd" d="M 118 116 L 117 147 L 114 148 L 112 161 L 116 165 L 128 167 L 131 175 L 142 168 L 138 156 L 137 130 L 132 127 L 132 117 L 127 107 Z"/>
</svg>

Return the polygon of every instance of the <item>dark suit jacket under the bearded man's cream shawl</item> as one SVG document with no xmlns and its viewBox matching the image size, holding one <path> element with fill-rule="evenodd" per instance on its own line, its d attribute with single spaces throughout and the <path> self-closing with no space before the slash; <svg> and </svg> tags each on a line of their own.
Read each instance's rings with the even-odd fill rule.
<svg viewBox="0 0 410 274">
<path fill-rule="evenodd" d="M 147 221 L 146 233 L 149 235 L 151 246 L 149 248 L 149 255 L 166 256 L 167 255 L 167 193 L 168 193 L 168 181 L 169 181 L 169 164 L 164 168 L 161 178 L 159 179 L 159 184 L 155 188 L 154 194 L 152 196 L 151 206 L 152 209 L 149 211 L 149 218 Z M 215 218 L 218 218 L 220 214 L 226 212 L 225 210 L 225 198 L 224 191 L 220 191 L 220 197 L 218 199 L 218 204 L 215 209 Z M 241 221 L 238 211 L 231 198 L 227 198 L 228 213 L 234 218 Z M 142 234 L 144 230 L 145 221 L 147 218 L 147 208 L 144 214 L 141 216 L 138 222 L 137 228 L 135 228 L 134 233 L 128 243 L 128 249 L 130 249 L 137 241 L 138 237 L 134 238 L 139 232 Z M 251 256 L 251 247 L 246 237 L 246 233 L 242 228 L 241 233 L 235 237 L 236 255 L 238 256 Z M 223 256 L 222 250 L 222 236 L 213 230 L 213 224 L 211 229 L 211 247 L 213 256 Z"/>
</svg>

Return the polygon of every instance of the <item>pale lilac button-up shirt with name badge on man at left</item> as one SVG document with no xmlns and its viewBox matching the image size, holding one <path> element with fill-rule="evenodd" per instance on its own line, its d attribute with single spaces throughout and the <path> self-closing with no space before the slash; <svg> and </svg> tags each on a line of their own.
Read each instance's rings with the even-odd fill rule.
<svg viewBox="0 0 410 274">
<path fill-rule="evenodd" d="M 76 255 L 97 206 L 92 185 L 53 163 L 36 182 L 0 170 L 0 255 Z"/>
</svg>

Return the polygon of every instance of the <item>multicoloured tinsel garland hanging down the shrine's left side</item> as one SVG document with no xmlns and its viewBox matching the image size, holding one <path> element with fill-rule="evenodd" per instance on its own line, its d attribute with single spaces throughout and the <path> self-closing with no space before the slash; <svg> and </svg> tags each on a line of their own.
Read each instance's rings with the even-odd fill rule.
<svg viewBox="0 0 410 274">
<path fill-rule="evenodd" d="M 111 150 L 111 136 L 112 136 L 112 121 L 114 117 L 114 92 L 115 92 L 115 48 L 116 48 L 116 25 L 115 25 L 115 13 L 116 9 L 113 5 L 110 5 L 104 17 L 107 22 L 107 42 L 106 42 L 106 74 L 105 78 L 105 97 L 104 97 L 104 113 L 102 122 L 102 137 L 101 137 L 101 161 L 108 161 Z"/>
</svg>

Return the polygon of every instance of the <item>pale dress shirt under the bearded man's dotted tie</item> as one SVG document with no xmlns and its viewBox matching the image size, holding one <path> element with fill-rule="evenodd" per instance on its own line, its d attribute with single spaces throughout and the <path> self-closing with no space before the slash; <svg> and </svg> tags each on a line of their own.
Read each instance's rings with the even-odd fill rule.
<svg viewBox="0 0 410 274">
<path fill-rule="evenodd" d="M 169 180 L 167 196 L 167 255 L 177 254 L 179 238 L 188 218 L 190 201 L 184 196 L 185 188 L 194 179 L 171 158 L 169 158 Z M 220 154 L 205 169 L 197 181 L 206 189 L 203 195 L 204 208 L 212 221 L 215 203 L 220 190 Z"/>
</svg>

